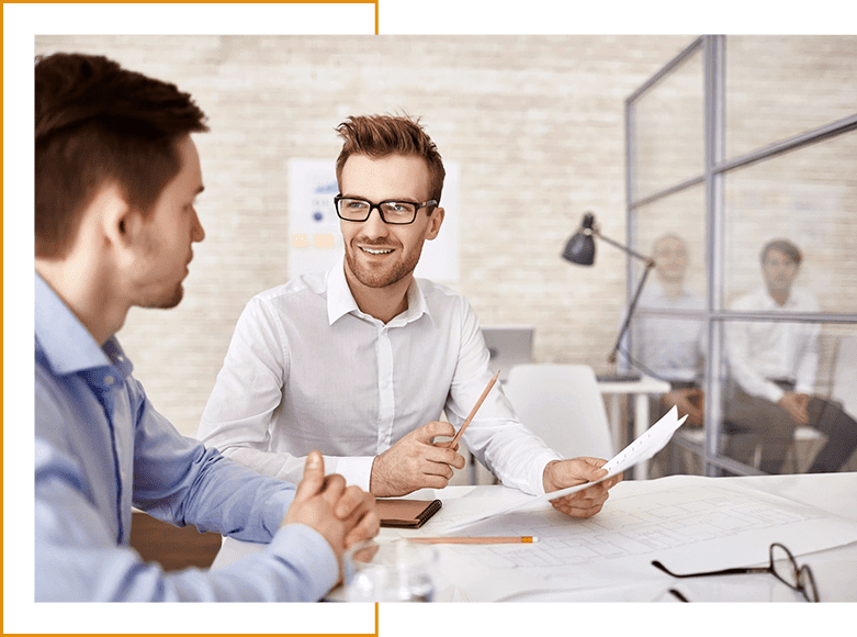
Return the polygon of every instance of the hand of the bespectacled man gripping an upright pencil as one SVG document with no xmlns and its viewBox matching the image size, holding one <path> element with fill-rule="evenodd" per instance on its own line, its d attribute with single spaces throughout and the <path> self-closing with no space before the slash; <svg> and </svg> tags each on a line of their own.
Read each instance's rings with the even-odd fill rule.
<svg viewBox="0 0 857 637">
<path fill-rule="evenodd" d="M 443 489 L 452 478 L 452 468 L 464 468 L 464 457 L 449 448 L 449 442 L 433 444 L 432 439 L 454 435 L 452 425 L 438 421 L 410 432 L 372 462 L 369 490 L 386 498 L 417 489 Z"/>
</svg>

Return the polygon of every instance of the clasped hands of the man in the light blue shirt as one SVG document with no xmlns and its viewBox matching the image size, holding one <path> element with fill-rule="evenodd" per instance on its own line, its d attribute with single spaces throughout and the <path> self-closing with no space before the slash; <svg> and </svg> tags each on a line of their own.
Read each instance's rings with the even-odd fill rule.
<svg viewBox="0 0 857 637">
<path fill-rule="evenodd" d="M 381 524 L 375 499 L 359 487 L 346 487 L 341 476 L 325 477 L 322 454 L 311 451 L 304 466 L 304 479 L 283 524 L 306 524 L 320 533 L 342 566 L 342 554 L 359 541 L 377 535 Z"/>
</svg>

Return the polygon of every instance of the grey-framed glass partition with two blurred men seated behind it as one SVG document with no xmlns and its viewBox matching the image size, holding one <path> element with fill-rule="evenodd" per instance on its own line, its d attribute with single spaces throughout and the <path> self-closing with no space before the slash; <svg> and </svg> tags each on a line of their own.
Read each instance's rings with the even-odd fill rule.
<svg viewBox="0 0 857 637">
<path fill-rule="evenodd" d="M 670 382 L 653 414 L 701 420 L 653 476 L 857 469 L 855 51 L 704 35 L 625 102 L 627 238 L 656 267 L 624 361 Z"/>
</svg>

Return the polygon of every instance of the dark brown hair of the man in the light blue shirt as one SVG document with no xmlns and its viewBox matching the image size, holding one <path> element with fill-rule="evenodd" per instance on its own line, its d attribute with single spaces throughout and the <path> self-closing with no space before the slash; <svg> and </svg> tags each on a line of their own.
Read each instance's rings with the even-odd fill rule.
<svg viewBox="0 0 857 637">
<path fill-rule="evenodd" d="M 177 142 L 208 127 L 190 94 L 106 57 L 36 56 L 34 72 L 35 254 L 57 258 L 101 186 L 147 213 L 181 168 Z"/>
</svg>

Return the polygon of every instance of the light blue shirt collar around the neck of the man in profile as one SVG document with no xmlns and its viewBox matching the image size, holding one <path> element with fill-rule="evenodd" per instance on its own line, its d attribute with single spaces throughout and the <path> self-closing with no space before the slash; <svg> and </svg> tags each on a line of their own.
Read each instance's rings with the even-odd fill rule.
<svg viewBox="0 0 857 637">
<path fill-rule="evenodd" d="M 122 376 L 133 366 L 115 337 L 101 347 L 50 286 L 34 271 L 33 332 L 35 347 L 58 376 L 114 366 Z"/>
</svg>

